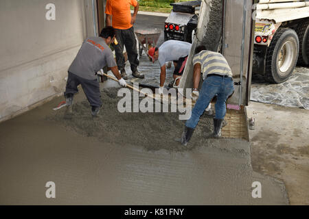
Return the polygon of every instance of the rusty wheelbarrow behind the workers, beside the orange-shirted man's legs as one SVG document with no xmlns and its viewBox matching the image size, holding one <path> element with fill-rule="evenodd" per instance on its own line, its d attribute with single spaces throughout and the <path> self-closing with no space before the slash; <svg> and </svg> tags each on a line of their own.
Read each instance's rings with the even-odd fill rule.
<svg viewBox="0 0 309 219">
<path fill-rule="evenodd" d="M 161 34 L 160 29 L 137 29 L 135 30 L 135 35 L 139 41 L 139 56 L 143 53 L 143 50 L 148 54 L 148 49 L 150 47 L 155 47 L 157 41 L 159 40 Z"/>
</svg>

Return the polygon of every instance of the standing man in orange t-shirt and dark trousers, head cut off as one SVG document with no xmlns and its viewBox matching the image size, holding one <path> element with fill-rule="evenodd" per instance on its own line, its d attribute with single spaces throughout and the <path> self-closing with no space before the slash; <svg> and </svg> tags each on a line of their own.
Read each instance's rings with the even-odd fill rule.
<svg viewBox="0 0 309 219">
<path fill-rule="evenodd" d="M 134 13 L 131 16 L 130 5 L 134 7 Z M 126 75 L 124 62 L 124 46 L 128 53 L 128 60 L 132 70 L 132 75 L 138 78 L 144 78 L 144 75 L 139 73 L 137 66 L 139 66 L 137 54 L 137 42 L 135 39 L 133 25 L 136 20 L 137 12 L 139 10 L 139 3 L 137 0 L 107 0 L 106 1 L 106 25 L 113 26 L 116 31 L 116 39 L 118 44 L 115 45 L 116 62 L 122 78 L 128 79 Z M 113 22 L 113 24 L 111 23 Z"/>
</svg>

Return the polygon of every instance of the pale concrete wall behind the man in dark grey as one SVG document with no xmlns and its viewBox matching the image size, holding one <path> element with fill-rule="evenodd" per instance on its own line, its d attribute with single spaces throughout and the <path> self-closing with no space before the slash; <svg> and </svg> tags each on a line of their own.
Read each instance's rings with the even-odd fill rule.
<svg viewBox="0 0 309 219">
<path fill-rule="evenodd" d="M 56 5 L 55 21 L 45 18 L 47 3 Z M 91 9 L 91 0 L 0 1 L 0 121 L 63 92 L 69 65 L 93 35 Z"/>
</svg>

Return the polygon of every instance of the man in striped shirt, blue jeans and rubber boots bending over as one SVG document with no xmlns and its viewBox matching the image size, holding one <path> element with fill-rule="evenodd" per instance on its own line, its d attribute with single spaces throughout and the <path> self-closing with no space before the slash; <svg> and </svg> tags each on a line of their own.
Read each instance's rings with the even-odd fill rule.
<svg viewBox="0 0 309 219">
<path fill-rule="evenodd" d="M 198 100 L 192 110 L 192 115 L 185 123 L 185 130 L 181 136 L 181 144 L 187 145 L 201 115 L 211 103 L 214 96 L 216 100 L 216 116 L 214 117 L 214 137 L 221 136 L 221 127 L 225 118 L 226 101 L 233 94 L 234 83 L 231 68 L 225 57 L 216 52 L 207 51 L 205 46 L 199 46 L 195 50 L 194 65 L 194 88 L 198 88 L 203 73 L 203 86 L 199 93 Z"/>
</svg>

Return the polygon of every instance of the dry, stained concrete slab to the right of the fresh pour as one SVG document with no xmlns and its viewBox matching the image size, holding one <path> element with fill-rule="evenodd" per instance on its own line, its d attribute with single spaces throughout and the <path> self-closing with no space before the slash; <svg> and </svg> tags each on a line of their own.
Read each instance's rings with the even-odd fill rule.
<svg viewBox="0 0 309 219">
<path fill-rule="evenodd" d="M 309 113 L 297 107 L 250 102 L 253 170 L 282 179 L 291 205 L 309 205 Z"/>
</svg>

